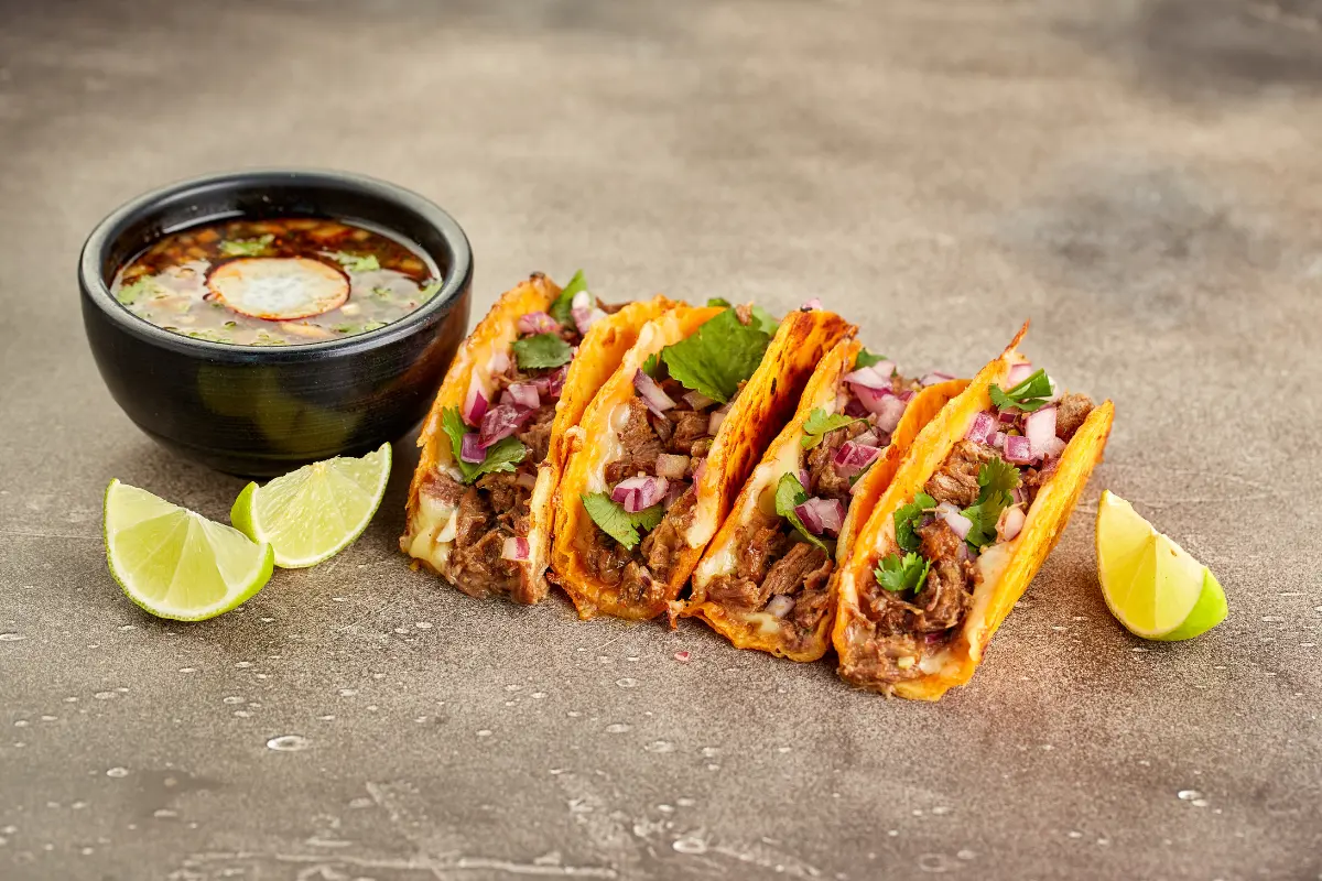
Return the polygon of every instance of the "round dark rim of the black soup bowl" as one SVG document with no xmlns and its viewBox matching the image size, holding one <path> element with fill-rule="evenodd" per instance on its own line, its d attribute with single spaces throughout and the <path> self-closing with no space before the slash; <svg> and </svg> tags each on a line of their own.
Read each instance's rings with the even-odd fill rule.
<svg viewBox="0 0 1322 881">
<path fill-rule="evenodd" d="M 341 189 L 348 185 L 357 189 L 365 197 L 395 202 L 398 207 L 411 211 L 422 218 L 424 223 L 436 229 L 451 250 L 449 267 L 442 273 L 440 291 L 414 312 L 377 330 L 369 330 L 368 333 L 344 339 L 309 341 L 282 346 L 246 346 L 233 342 L 197 339 L 157 328 L 141 316 L 134 314 L 119 302 L 111 295 L 110 285 L 102 276 L 102 265 L 110 246 L 143 214 L 147 214 L 167 199 L 186 195 L 194 190 L 214 190 L 226 186 L 262 189 L 263 186 L 300 185 L 316 188 L 319 184 L 333 185 Z M 208 221 L 200 218 L 196 225 L 204 223 L 208 223 Z M 415 248 L 422 248 L 411 238 L 408 240 Z M 353 355 L 405 339 L 416 330 L 419 324 L 424 324 L 436 313 L 448 309 L 455 297 L 461 295 L 472 281 L 472 272 L 473 254 L 468 236 L 464 234 L 463 227 L 459 226 L 459 222 L 439 205 L 389 181 L 353 172 L 319 168 L 254 168 L 217 172 L 157 186 L 124 202 L 107 214 L 89 234 L 78 258 L 78 283 L 85 295 L 85 301 L 90 300 L 103 316 L 128 334 L 143 342 L 180 354 L 233 362 L 267 363 L 303 361 L 308 355 Z"/>
</svg>

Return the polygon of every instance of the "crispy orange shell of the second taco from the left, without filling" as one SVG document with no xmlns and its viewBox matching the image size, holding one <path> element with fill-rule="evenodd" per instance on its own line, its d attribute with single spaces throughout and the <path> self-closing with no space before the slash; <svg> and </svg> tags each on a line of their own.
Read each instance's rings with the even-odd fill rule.
<svg viewBox="0 0 1322 881">
<path fill-rule="evenodd" d="M 621 452 L 612 419 L 620 407 L 633 399 L 633 375 L 642 362 L 689 337 L 720 312 L 710 306 L 678 306 L 649 322 L 639 333 L 637 345 L 592 400 L 579 427 L 571 432 L 572 449 L 558 494 L 551 567 L 583 618 L 596 614 L 654 618 L 670 610 L 670 604 L 680 596 L 758 456 L 789 417 L 813 366 L 841 337 L 853 332 L 843 318 L 820 309 L 785 316 L 761 363 L 735 398 L 713 439 L 706 468 L 695 481 L 697 502 L 691 519 L 683 530 L 682 544 L 661 596 L 654 600 L 623 596 L 617 586 L 603 581 L 586 563 L 592 543 L 599 538 L 596 524 L 583 507 L 582 494 L 607 487 L 605 466 Z"/>
</svg>

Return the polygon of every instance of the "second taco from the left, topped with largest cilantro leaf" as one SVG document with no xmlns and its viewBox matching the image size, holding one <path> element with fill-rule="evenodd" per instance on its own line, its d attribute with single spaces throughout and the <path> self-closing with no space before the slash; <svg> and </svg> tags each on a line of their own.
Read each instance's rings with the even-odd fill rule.
<svg viewBox="0 0 1322 881">
<path fill-rule="evenodd" d="M 551 565 L 579 614 L 652 618 L 715 535 L 821 359 L 853 328 L 821 309 L 676 308 L 602 387 L 564 466 Z"/>
</svg>

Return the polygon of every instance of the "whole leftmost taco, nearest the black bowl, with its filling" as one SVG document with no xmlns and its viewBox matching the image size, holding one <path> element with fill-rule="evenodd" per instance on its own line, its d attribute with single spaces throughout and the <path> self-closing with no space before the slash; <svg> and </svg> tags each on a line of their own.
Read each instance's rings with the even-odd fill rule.
<svg viewBox="0 0 1322 881">
<path fill-rule="evenodd" d="M 451 363 L 418 437 L 399 547 L 464 593 L 517 602 L 547 590 L 564 437 L 639 330 L 674 304 L 596 301 L 575 275 L 504 293 Z"/>
</svg>

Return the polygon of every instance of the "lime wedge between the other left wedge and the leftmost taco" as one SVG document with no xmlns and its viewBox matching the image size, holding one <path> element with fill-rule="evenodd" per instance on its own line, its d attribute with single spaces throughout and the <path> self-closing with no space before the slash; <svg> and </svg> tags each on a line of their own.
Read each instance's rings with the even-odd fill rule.
<svg viewBox="0 0 1322 881">
<path fill-rule="evenodd" d="M 390 444 L 362 458 L 337 456 L 304 465 L 266 486 L 249 483 L 230 522 L 254 542 L 270 542 L 275 564 L 301 569 L 329 560 L 362 535 L 390 479 Z"/>
</svg>

